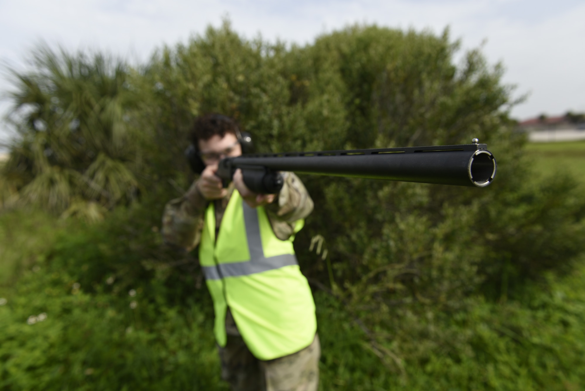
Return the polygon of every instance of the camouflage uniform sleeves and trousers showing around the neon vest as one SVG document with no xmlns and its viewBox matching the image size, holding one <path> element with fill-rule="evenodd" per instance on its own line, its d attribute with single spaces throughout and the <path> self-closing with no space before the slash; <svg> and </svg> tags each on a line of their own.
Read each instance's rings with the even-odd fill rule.
<svg viewBox="0 0 585 391">
<path fill-rule="evenodd" d="M 283 173 L 284 186 L 277 199 L 266 205 L 267 215 L 274 234 L 286 240 L 294 233 L 294 223 L 305 218 L 313 209 L 313 201 L 301 180 L 294 173 Z M 187 194 L 170 201 L 163 215 L 162 234 L 166 242 L 194 249 L 201 240 L 204 213 L 209 202 L 214 203 L 216 235 L 219 231 L 223 213 L 234 190 L 233 183 L 228 187 L 228 195 L 220 200 L 207 201 L 199 193 L 194 183 Z M 229 311 L 226 314 L 226 334 L 228 342 L 224 348 L 218 347 L 222 363 L 222 378 L 230 383 L 235 391 L 313 391 L 319 382 L 319 338 L 311 345 L 294 354 L 281 358 L 260 361 L 246 347 L 238 327 Z"/>
</svg>

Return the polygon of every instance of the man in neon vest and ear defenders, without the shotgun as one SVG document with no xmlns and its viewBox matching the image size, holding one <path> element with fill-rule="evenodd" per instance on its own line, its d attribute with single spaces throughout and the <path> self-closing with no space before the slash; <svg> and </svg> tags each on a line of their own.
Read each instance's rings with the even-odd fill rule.
<svg viewBox="0 0 585 391">
<path fill-rule="evenodd" d="M 316 390 L 321 347 L 315 304 L 292 241 L 313 209 L 294 173 L 278 194 L 256 194 L 237 170 L 222 187 L 219 160 L 242 154 L 235 120 L 195 120 L 191 141 L 204 163 L 199 179 L 163 215 L 163 237 L 191 251 L 214 302 L 222 379 L 235 391 Z"/>
</svg>

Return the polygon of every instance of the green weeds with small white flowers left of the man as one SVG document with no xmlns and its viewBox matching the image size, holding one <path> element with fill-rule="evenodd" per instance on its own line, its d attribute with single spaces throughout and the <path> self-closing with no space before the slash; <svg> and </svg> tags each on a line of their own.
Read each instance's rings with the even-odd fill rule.
<svg viewBox="0 0 585 391">
<path fill-rule="evenodd" d="M 142 258 L 160 242 L 146 211 L 62 232 L 0 290 L 0 389 L 225 389 L 211 300 L 177 270 L 194 260 Z"/>
</svg>

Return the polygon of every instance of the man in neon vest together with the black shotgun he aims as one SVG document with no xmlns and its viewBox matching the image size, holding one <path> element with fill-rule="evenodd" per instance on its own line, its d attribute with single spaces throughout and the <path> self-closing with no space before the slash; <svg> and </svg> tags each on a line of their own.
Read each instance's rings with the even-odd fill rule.
<svg viewBox="0 0 585 391">
<path fill-rule="evenodd" d="M 193 249 L 214 301 L 222 377 L 233 390 L 316 390 L 315 305 L 292 239 L 313 203 L 292 173 L 485 187 L 495 159 L 469 145 L 241 156 L 250 136 L 198 118 L 188 156 L 201 177 L 163 216 L 167 242 Z"/>
</svg>

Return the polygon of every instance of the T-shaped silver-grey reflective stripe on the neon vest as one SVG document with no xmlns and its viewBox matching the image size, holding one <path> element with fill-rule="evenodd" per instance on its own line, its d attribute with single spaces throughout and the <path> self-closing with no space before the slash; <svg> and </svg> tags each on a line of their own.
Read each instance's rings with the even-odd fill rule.
<svg viewBox="0 0 585 391">
<path fill-rule="evenodd" d="M 268 270 L 280 269 L 284 266 L 298 265 L 294 254 L 283 254 L 264 257 L 262 240 L 260 238 L 260 224 L 258 213 L 242 201 L 244 209 L 244 222 L 246 225 L 246 238 L 250 251 L 250 260 L 246 262 L 220 263 L 218 266 L 204 266 L 205 278 L 219 280 L 222 277 L 248 276 Z"/>
</svg>

